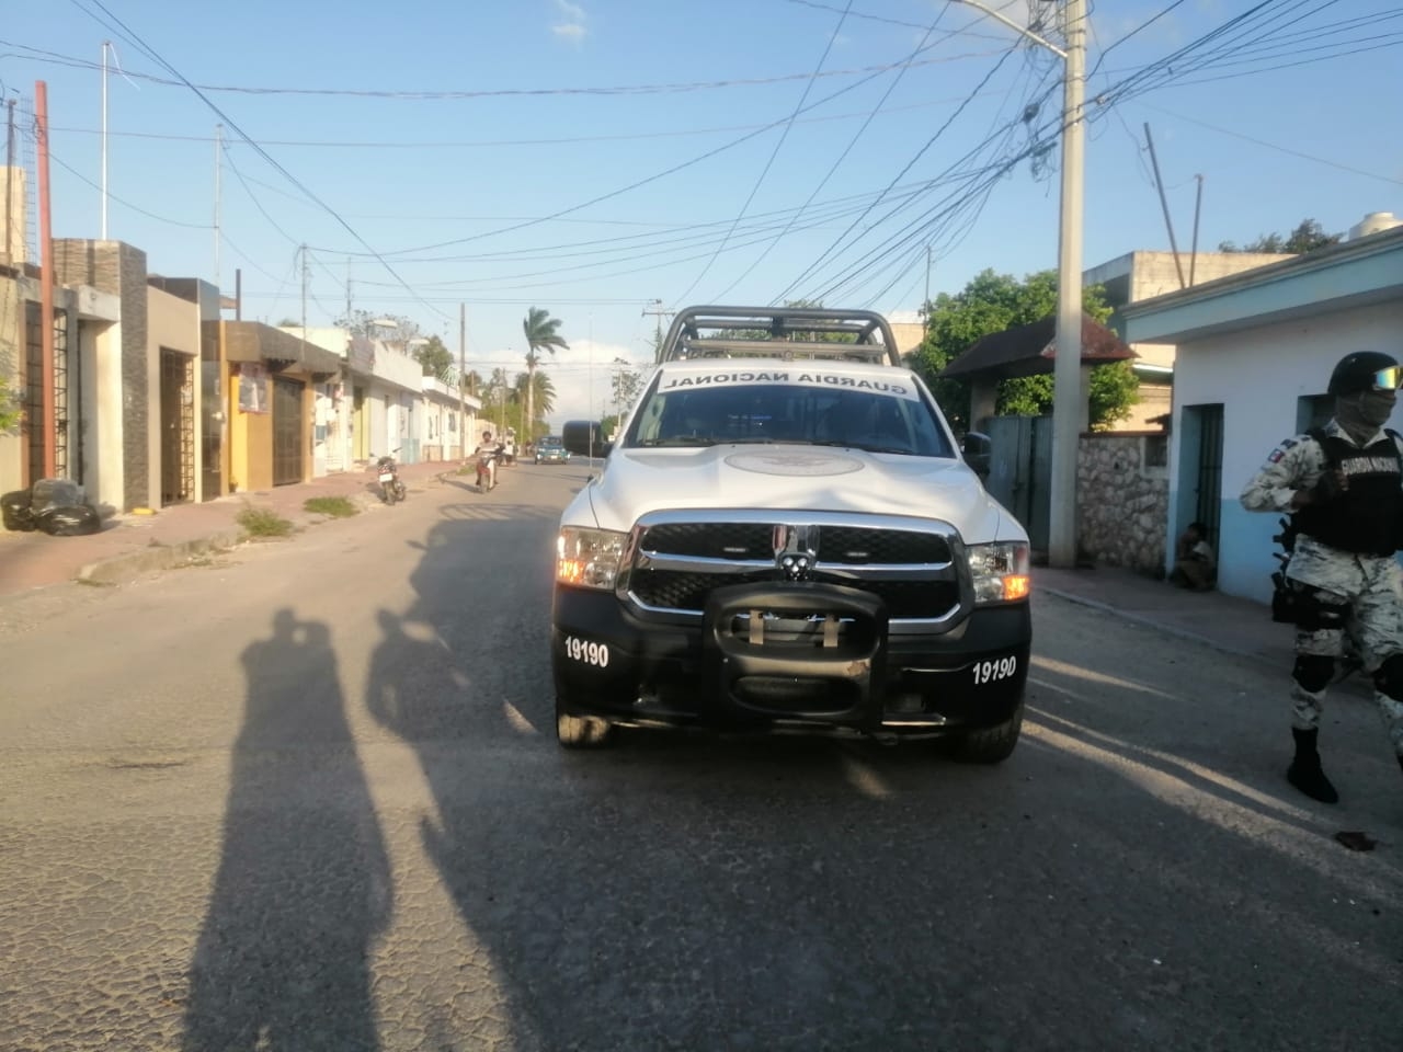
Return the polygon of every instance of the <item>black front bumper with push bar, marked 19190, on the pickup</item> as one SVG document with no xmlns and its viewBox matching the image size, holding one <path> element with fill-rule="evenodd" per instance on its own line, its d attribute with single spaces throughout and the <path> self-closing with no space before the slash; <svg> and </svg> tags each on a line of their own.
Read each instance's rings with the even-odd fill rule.
<svg viewBox="0 0 1403 1052">
<path fill-rule="evenodd" d="M 934 736 L 1017 710 L 1028 605 L 981 607 L 946 633 L 891 633 L 854 588 L 737 585 L 689 623 L 636 614 L 610 592 L 557 588 L 556 694 L 626 725 Z"/>
</svg>

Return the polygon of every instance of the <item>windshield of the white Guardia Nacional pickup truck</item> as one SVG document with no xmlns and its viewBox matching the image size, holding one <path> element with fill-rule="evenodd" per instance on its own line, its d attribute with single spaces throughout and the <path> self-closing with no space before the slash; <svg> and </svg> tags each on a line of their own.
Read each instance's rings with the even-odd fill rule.
<svg viewBox="0 0 1403 1052">
<path fill-rule="evenodd" d="M 638 407 L 624 438 L 624 446 L 753 442 L 954 456 L 922 398 L 812 384 L 655 387 Z"/>
</svg>

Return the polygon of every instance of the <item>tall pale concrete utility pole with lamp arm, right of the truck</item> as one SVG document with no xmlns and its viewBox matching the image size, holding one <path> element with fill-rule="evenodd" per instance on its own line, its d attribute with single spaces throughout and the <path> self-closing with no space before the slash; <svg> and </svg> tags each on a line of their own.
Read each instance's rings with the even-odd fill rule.
<svg viewBox="0 0 1403 1052">
<path fill-rule="evenodd" d="M 1066 49 L 978 0 L 978 8 L 1062 59 L 1062 206 L 1058 234 L 1056 355 L 1052 359 L 1052 506 L 1048 562 L 1076 565 L 1076 453 L 1086 393 L 1082 390 L 1082 205 L 1085 198 L 1086 0 L 1062 0 Z"/>
</svg>

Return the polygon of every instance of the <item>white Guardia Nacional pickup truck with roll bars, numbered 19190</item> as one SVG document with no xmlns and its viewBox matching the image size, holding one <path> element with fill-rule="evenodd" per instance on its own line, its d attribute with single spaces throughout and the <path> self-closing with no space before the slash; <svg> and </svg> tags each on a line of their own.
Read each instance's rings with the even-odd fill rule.
<svg viewBox="0 0 1403 1052">
<path fill-rule="evenodd" d="M 588 454 L 595 426 L 565 446 Z M 683 310 L 606 453 L 557 539 L 563 746 L 626 725 L 1013 752 L 1027 533 L 881 316 Z"/>
</svg>

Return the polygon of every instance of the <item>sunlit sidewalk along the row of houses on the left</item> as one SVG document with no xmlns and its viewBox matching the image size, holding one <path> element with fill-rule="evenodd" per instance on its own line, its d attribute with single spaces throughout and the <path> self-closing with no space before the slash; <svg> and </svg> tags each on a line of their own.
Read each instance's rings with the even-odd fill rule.
<svg viewBox="0 0 1403 1052">
<path fill-rule="evenodd" d="M 415 491 L 457 467 L 456 460 L 408 464 L 400 467 L 400 478 L 412 499 Z M 237 516 L 248 505 L 268 508 L 295 526 L 324 522 L 303 508 L 313 497 L 345 497 L 362 512 L 382 506 L 375 473 L 358 468 L 206 504 L 180 504 L 154 515 L 118 515 L 102 523 L 101 533 L 87 537 L 0 530 L 0 596 L 79 579 L 119 584 L 180 565 L 202 551 L 233 547 L 243 533 Z"/>
</svg>

